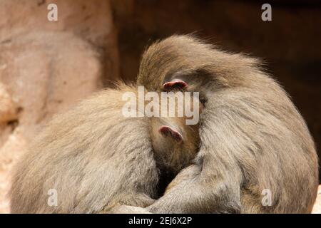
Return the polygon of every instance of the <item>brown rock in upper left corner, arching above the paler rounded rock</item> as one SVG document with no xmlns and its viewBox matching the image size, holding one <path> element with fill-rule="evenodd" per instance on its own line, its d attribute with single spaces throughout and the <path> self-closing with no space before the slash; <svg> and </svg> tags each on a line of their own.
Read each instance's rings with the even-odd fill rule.
<svg viewBox="0 0 321 228">
<path fill-rule="evenodd" d="M 58 21 L 47 19 L 49 4 L 57 5 Z M 0 43 L 37 31 L 68 31 L 92 43 L 101 54 L 104 81 L 118 78 L 118 46 L 110 1 L 3 0 L 0 15 Z"/>
</svg>

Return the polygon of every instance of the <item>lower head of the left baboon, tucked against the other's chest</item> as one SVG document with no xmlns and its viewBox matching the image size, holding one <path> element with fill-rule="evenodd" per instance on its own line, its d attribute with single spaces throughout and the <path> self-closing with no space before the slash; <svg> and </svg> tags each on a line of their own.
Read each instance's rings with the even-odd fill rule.
<svg viewBox="0 0 321 228">
<path fill-rule="evenodd" d="M 163 95 L 166 95 L 165 99 Z M 161 97 L 158 101 L 161 106 L 160 117 L 150 119 L 151 141 L 161 168 L 177 172 L 189 165 L 198 152 L 198 118 L 203 106 L 198 98 L 188 93 L 162 93 Z M 163 112 L 163 102 L 166 102 L 166 113 Z"/>
</svg>

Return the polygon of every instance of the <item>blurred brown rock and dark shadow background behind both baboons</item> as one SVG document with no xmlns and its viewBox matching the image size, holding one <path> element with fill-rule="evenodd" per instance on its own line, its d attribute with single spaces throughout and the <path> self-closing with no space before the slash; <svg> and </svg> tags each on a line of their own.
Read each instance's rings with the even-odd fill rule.
<svg viewBox="0 0 321 228">
<path fill-rule="evenodd" d="M 264 3 L 272 21 L 261 20 Z M 0 0 L 0 15 L 0 213 L 11 167 L 46 120 L 111 81 L 135 81 L 144 48 L 175 33 L 262 58 L 321 157 L 321 1 Z"/>
</svg>

